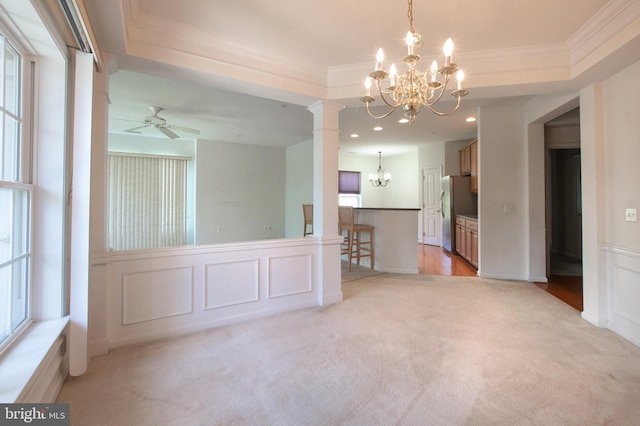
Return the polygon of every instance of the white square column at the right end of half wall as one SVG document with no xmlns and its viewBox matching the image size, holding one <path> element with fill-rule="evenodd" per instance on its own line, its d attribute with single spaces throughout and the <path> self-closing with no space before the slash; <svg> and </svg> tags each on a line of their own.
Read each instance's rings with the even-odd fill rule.
<svg viewBox="0 0 640 426">
<path fill-rule="evenodd" d="M 313 113 L 313 235 L 318 237 L 318 304 L 342 301 L 338 232 L 338 116 L 343 105 L 319 101 Z"/>
</svg>

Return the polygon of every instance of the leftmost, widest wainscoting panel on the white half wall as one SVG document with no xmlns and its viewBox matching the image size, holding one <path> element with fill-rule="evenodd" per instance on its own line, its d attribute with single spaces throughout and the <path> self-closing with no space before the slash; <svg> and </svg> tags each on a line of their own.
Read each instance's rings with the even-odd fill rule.
<svg viewBox="0 0 640 426">
<path fill-rule="evenodd" d="M 122 275 L 122 324 L 193 312 L 193 268 L 156 269 Z"/>
</svg>

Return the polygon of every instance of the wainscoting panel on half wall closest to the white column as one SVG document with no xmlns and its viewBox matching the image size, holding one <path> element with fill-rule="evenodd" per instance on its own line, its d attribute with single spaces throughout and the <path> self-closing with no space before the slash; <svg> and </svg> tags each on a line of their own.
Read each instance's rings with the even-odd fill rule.
<svg viewBox="0 0 640 426">
<path fill-rule="evenodd" d="M 269 298 L 307 293 L 311 286 L 311 256 L 269 258 Z"/>
</svg>

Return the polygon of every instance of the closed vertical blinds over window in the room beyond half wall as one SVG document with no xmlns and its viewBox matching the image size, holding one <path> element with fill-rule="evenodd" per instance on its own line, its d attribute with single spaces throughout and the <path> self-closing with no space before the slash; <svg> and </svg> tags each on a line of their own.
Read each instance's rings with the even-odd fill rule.
<svg viewBox="0 0 640 426">
<path fill-rule="evenodd" d="M 109 248 L 186 244 L 187 162 L 184 157 L 109 154 Z"/>
</svg>

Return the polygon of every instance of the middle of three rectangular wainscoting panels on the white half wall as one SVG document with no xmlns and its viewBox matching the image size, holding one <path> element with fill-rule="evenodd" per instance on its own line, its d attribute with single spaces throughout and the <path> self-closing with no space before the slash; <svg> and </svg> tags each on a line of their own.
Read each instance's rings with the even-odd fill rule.
<svg viewBox="0 0 640 426">
<path fill-rule="evenodd" d="M 258 259 L 205 266 L 205 309 L 257 302 Z"/>
</svg>

